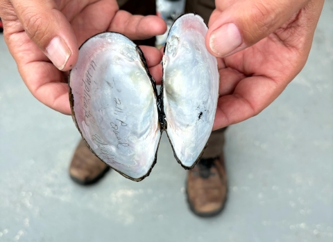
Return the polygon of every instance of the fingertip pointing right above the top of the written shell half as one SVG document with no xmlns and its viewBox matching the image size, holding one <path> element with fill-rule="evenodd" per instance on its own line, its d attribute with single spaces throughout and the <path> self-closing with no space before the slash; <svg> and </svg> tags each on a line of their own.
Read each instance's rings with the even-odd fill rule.
<svg viewBox="0 0 333 242">
<path fill-rule="evenodd" d="M 148 39 L 167 31 L 165 21 L 157 16 L 131 15 L 119 10 L 112 19 L 109 31 L 120 32 L 130 39 Z"/>
</svg>

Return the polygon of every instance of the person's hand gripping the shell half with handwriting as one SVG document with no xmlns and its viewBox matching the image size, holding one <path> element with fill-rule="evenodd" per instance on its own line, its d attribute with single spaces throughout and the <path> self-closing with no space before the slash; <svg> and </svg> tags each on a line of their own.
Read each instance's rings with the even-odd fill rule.
<svg viewBox="0 0 333 242">
<path fill-rule="evenodd" d="M 4 38 L 28 89 L 40 102 L 70 114 L 67 75 L 78 59 L 78 47 L 103 31 L 146 39 L 167 30 L 156 16 L 119 10 L 116 0 L 0 0 Z M 142 48 L 148 66 L 160 52 Z M 52 63 L 53 62 L 53 63 Z M 54 64 L 54 65 L 53 65 Z"/>
</svg>

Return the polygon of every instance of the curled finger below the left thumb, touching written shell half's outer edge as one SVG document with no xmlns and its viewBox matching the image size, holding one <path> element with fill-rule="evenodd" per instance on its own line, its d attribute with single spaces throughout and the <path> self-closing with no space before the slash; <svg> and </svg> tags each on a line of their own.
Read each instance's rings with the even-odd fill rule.
<svg viewBox="0 0 333 242">
<path fill-rule="evenodd" d="M 5 35 L 8 49 L 29 91 L 43 104 L 70 114 L 67 78 L 42 53 L 26 32 Z"/>
</svg>

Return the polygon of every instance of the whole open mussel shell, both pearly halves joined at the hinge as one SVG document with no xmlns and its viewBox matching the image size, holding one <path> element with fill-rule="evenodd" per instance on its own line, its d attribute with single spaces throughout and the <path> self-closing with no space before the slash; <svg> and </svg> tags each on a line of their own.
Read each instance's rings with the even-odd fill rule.
<svg viewBox="0 0 333 242">
<path fill-rule="evenodd" d="M 183 167 L 193 167 L 203 153 L 219 89 L 206 32 L 203 19 L 194 14 L 173 24 L 160 95 L 142 51 L 127 37 L 105 32 L 80 47 L 69 75 L 73 120 L 89 149 L 126 178 L 139 181 L 149 175 L 164 130 Z"/>
</svg>

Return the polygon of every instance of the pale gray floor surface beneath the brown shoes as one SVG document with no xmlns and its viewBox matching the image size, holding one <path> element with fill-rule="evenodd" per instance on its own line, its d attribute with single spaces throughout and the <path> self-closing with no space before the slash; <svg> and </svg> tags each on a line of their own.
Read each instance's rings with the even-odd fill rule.
<svg viewBox="0 0 333 242">
<path fill-rule="evenodd" d="M 67 174 L 71 118 L 24 86 L 0 37 L 0 241 L 333 241 L 333 2 L 304 70 L 265 111 L 226 133 L 229 197 L 198 218 L 166 136 L 151 176 L 110 172 L 82 187 Z"/>
</svg>

